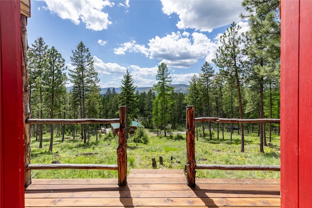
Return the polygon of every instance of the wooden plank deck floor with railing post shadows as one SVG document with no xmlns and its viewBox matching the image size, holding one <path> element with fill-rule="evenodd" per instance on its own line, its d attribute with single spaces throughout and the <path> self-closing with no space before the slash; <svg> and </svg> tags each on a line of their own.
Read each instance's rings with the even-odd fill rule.
<svg viewBox="0 0 312 208">
<path fill-rule="evenodd" d="M 117 179 L 33 179 L 25 208 L 280 208 L 280 180 L 198 179 L 186 185 L 182 170 L 131 170 Z"/>
</svg>

